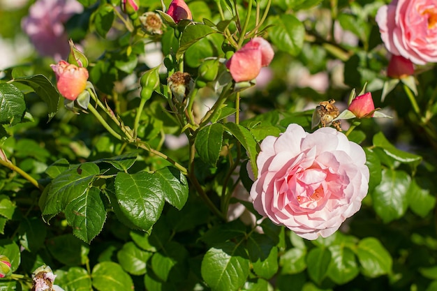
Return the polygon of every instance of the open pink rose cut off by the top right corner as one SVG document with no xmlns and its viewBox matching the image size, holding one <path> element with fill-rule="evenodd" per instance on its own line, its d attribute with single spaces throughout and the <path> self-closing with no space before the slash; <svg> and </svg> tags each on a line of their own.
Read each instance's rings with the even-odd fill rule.
<svg viewBox="0 0 437 291">
<path fill-rule="evenodd" d="M 436 0 L 394 0 L 379 8 L 376 22 L 392 54 L 418 65 L 437 62 Z"/>
</svg>

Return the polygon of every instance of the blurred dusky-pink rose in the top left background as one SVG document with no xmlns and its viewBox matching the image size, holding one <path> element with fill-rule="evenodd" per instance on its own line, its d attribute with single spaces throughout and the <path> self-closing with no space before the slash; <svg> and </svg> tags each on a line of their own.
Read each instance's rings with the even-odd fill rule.
<svg viewBox="0 0 437 291">
<path fill-rule="evenodd" d="M 70 51 L 64 23 L 82 11 L 76 0 L 38 0 L 29 8 L 29 16 L 23 18 L 22 29 L 39 54 L 59 61 Z"/>
</svg>

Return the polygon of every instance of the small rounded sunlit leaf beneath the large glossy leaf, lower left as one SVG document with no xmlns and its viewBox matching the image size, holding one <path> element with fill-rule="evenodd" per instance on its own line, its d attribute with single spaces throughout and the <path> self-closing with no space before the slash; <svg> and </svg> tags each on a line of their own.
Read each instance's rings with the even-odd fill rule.
<svg viewBox="0 0 437 291">
<path fill-rule="evenodd" d="M 142 251 L 132 241 L 129 241 L 118 251 L 117 259 L 121 267 L 128 273 L 144 275 L 146 274 L 146 262 L 151 255 L 151 253 Z"/>
</svg>

